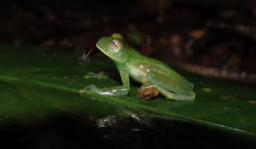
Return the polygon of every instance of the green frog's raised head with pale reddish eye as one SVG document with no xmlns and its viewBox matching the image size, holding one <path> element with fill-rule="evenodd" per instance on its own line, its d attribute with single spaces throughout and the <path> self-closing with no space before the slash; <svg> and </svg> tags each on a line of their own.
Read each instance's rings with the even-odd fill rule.
<svg viewBox="0 0 256 149">
<path fill-rule="evenodd" d="M 109 37 L 101 37 L 96 46 L 113 61 L 123 63 L 128 59 L 128 44 L 120 34 L 113 34 Z"/>
</svg>

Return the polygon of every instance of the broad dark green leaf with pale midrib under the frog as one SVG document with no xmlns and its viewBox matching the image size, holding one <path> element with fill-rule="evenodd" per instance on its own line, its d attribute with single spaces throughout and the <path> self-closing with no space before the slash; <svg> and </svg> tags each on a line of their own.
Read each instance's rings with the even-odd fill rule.
<svg viewBox="0 0 256 149">
<path fill-rule="evenodd" d="M 120 84 L 118 71 L 107 57 L 80 55 L 38 47 L 0 45 L 0 126 L 10 123 L 39 123 L 53 114 L 93 117 L 139 115 L 145 122 L 154 117 L 197 123 L 256 139 L 255 88 L 211 79 L 177 70 L 194 84 L 193 101 L 166 100 L 162 96 L 144 102 L 137 98 L 138 83 L 126 96 L 77 94 L 91 84 L 100 88 Z M 108 78 L 86 77 L 105 71 Z"/>
</svg>

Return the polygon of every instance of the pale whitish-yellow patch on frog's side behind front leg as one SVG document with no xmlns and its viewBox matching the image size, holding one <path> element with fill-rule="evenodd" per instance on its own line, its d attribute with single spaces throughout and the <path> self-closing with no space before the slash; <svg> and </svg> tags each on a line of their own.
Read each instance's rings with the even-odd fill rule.
<svg viewBox="0 0 256 149">
<path fill-rule="evenodd" d="M 131 68 L 128 70 L 128 72 L 129 72 L 129 76 L 132 79 L 135 79 L 137 82 L 140 82 L 140 83 L 147 82 L 145 71 Z"/>
</svg>

